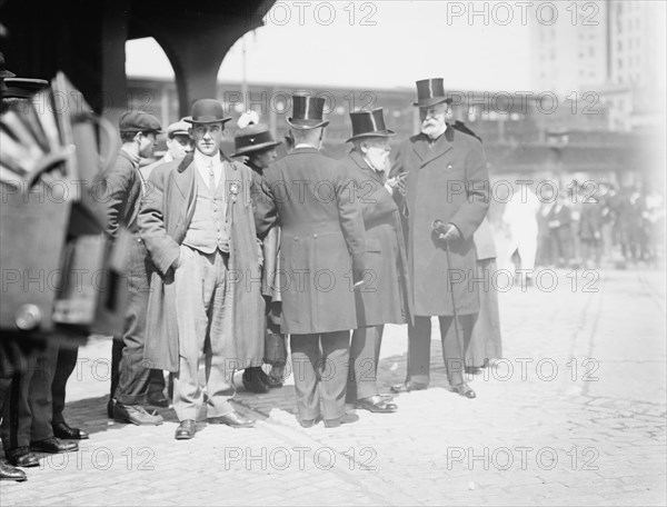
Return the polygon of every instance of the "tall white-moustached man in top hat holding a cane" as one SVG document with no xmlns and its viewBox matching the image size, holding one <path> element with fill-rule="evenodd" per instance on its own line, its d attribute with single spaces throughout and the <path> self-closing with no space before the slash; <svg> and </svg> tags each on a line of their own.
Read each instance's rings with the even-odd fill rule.
<svg viewBox="0 0 667 507">
<path fill-rule="evenodd" d="M 392 390 L 428 387 L 430 317 L 438 316 L 450 389 L 474 398 L 464 379 L 464 342 L 479 309 L 472 235 L 489 207 L 488 169 L 479 140 L 447 126 L 451 99 L 442 79 L 418 81 L 417 93 L 421 132 L 399 146 L 391 168 L 391 176 L 407 172 L 402 210 L 415 315 L 408 327 L 407 379 Z M 439 230 L 436 220 L 442 223 Z"/>
</svg>

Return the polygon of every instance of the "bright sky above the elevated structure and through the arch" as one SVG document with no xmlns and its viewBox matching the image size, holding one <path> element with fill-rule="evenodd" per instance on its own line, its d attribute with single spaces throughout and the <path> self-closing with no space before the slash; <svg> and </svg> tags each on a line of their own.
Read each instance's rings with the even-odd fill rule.
<svg viewBox="0 0 667 507">
<path fill-rule="evenodd" d="M 266 26 L 245 37 L 247 79 L 414 88 L 419 79 L 442 77 L 448 89 L 530 90 L 536 17 L 535 8 L 515 2 L 279 1 Z M 219 79 L 241 80 L 241 48 L 239 40 Z M 127 43 L 126 69 L 130 77 L 173 77 L 153 39 Z"/>
</svg>

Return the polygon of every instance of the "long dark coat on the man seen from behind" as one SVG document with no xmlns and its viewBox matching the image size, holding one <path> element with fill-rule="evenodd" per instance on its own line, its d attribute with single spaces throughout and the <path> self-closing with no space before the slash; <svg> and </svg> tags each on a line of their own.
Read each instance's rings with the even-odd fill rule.
<svg viewBox="0 0 667 507">
<path fill-rule="evenodd" d="M 315 148 L 297 148 L 263 171 L 257 230 L 263 237 L 280 221 L 282 332 L 357 328 L 352 269 L 364 270 L 364 220 L 346 173 Z"/>
</svg>

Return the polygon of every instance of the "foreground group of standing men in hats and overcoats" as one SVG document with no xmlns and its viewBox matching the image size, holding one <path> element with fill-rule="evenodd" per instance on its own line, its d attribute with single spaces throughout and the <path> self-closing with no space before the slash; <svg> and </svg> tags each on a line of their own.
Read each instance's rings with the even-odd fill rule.
<svg viewBox="0 0 667 507">
<path fill-rule="evenodd" d="M 110 418 L 160 425 L 157 408 L 172 404 L 178 440 L 202 420 L 253 427 L 230 404 L 233 374 L 245 370 L 248 390 L 282 386 L 288 339 L 303 428 L 355 422 L 356 409 L 396 412 L 394 396 L 429 385 L 432 316 L 448 390 L 476 397 L 465 372 L 501 355 L 496 295 L 474 282 L 495 269 L 487 162 L 472 132 L 445 121 L 442 79 L 417 82 L 417 95 L 419 133 L 391 153 L 382 109 L 351 112 L 344 160 L 321 152 L 325 100 L 310 95 L 292 97 L 280 160 L 281 141 L 252 115 L 223 153 L 231 118 L 213 99 L 167 128 L 167 153 L 149 165 L 162 126 L 142 111 L 120 118 L 122 146 L 101 175 L 107 233 L 133 240 Z M 406 380 L 391 394 L 377 385 L 386 324 L 407 324 L 409 337 Z M 38 466 L 34 451 L 89 438 L 62 417 L 77 350 L 33 356 L 33 368 L 3 369 L 3 479 L 24 480 L 14 467 Z"/>
</svg>

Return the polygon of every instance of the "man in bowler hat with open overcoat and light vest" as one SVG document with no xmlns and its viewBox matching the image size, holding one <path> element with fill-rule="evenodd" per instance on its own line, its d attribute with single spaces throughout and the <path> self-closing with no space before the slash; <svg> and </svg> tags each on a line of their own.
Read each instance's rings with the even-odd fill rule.
<svg viewBox="0 0 667 507">
<path fill-rule="evenodd" d="M 201 355 L 209 422 L 253 424 L 229 404 L 233 370 L 260 366 L 263 352 L 252 176 L 220 151 L 229 119 L 217 100 L 195 102 L 189 122 L 196 151 L 151 172 L 139 213 L 141 237 L 157 268 L 145 357 L 152 368 L 176 372 L 177 439 L 195 436 L 203 408 Z"/>
</svg>

